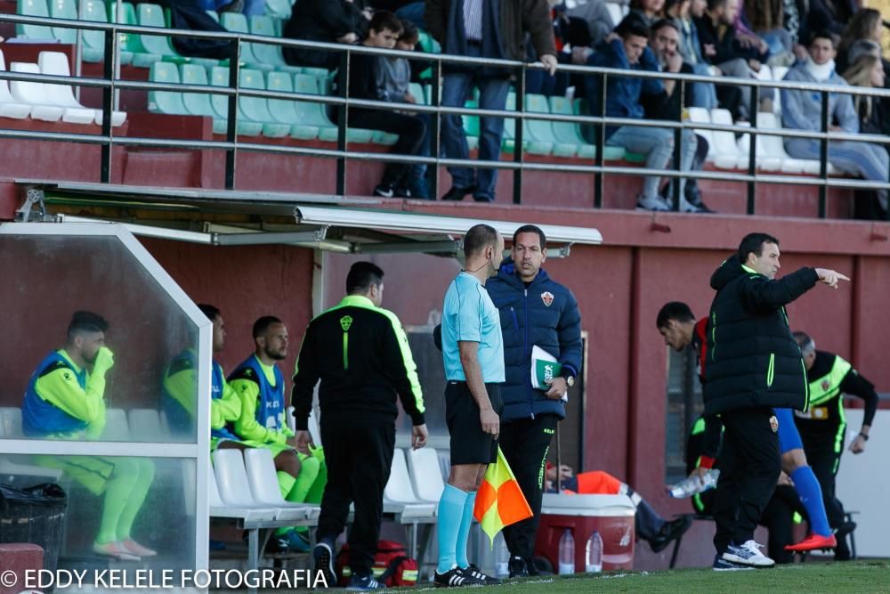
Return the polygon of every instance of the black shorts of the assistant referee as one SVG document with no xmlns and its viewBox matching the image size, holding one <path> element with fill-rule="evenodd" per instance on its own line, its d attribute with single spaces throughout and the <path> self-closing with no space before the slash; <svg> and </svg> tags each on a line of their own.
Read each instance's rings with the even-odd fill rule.
<svg viewBox="0 0 890 594">
<path fill-rule="evenodd" d="M 500 416 L 504 403 L 500 384 L 486 384 L 491 406 Z M 492 464 L 498 461 L 498 442 L 484 433 L 479 420 L 479 405 L 465 381 L 445 384 L 445 422 L 451 435 L 451 465 Z"/>
</svg>

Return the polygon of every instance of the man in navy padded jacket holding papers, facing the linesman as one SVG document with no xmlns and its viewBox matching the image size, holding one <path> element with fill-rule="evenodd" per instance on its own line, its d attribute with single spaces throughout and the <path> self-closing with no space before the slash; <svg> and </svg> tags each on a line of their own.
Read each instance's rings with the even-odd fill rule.
<svg viewBox="0 0 890 594">
<path fill-rule="evenodd" d="M 500 447 L 535 513 L 504 529 L 510 549 L 510 575 L 535 575 L 531 563 L 547 450 L 556 423 L 565 418 L 562 395 L 574 386 L 581 369 L 581 316 L 578 302 L 541 269 L 546 238 L 535 225 L 523 225 L 513 235 L 513 257 L 489 279 L 491 301 L 498 307 L 504 335 L 506 382 L 501 387 Z M 531 348 L 538 346 L 562 364 L 562 374 L 546 391 L 531 387 Z"/>
</svg>

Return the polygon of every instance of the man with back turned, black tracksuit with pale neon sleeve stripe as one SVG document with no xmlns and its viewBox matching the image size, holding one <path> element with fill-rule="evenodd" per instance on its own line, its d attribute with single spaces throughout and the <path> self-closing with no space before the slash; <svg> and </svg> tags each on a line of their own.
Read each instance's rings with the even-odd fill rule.
<svg viewBox="0 0 890 594">
<path fill-rule="evenodd" d="M 424 397 L 408 338 L 394 313 L 380 307 L 384 272 L 370 262 L 352 264 L 346 297 L 309 323 L 296 361 L 292 403 L 296 446 L 309 452 L 312 390 L 321 380 L 321 441 L 328 484 L 321 500 L 316 571 L 335 583 L 334 541 L 343 532 L 349 506 L 350 587 L 375 590 L 371 566 L 380 535 L 384 486 L 395 447 L 396 395 L 411 417 L 411 443 L 426 444 Z"/>
</svg>

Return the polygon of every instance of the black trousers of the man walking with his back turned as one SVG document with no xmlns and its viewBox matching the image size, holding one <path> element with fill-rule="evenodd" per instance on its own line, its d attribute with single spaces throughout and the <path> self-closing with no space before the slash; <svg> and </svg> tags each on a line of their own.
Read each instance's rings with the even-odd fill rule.
<svg viewBox="0 0 890 594">
<path fill-rule="evenodd" d="M 318 540 L 343 532 L 349 506 L 355 519 L 349 531 L 349 566 L 353 575 L 370 575 L 377 552 L 384 509 L 384 487 L 392 467 L 395 423 L 376 419 L 321 416 L 328 484 L 321 498 Z"/>
</svg>

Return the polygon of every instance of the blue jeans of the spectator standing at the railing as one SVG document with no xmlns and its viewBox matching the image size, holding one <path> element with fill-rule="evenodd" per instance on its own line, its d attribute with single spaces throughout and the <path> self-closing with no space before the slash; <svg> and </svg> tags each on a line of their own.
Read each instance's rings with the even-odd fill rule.
<svg viewBox="0 0 890 594">
<path fill-rule="evenodd" d="M 479 49 L 468 46 L 467 55 L 479 57 Z M 473 72 L 454 72 L 445 75 L 442 84 L 442 106 L 463 107 L 470 98 L 473 85 L 479 87 L 479 108 L 481 110 L 503 110 L 506 107 L 506 94 L 510 88 L 507 78 L 481 77 Z M 504 135 L 504 118 L 480 118 L 479 159 L 497 161 L 500 159 L 501 138 Z M 449 159 L 469 159 L 470 150 L 466 145 L 466 134 L 462 118 L 455 114 L 443 115 L 441 122 L 442 144 Z M 519 150 L 517 148 L 517 150 Z M 449 167 L 451 183 L 458 188 L 475 186 L 473 198 L 493 201 L 495 184 L 498 183 L 497 169 L 469 167 Z"/>
</svg>

